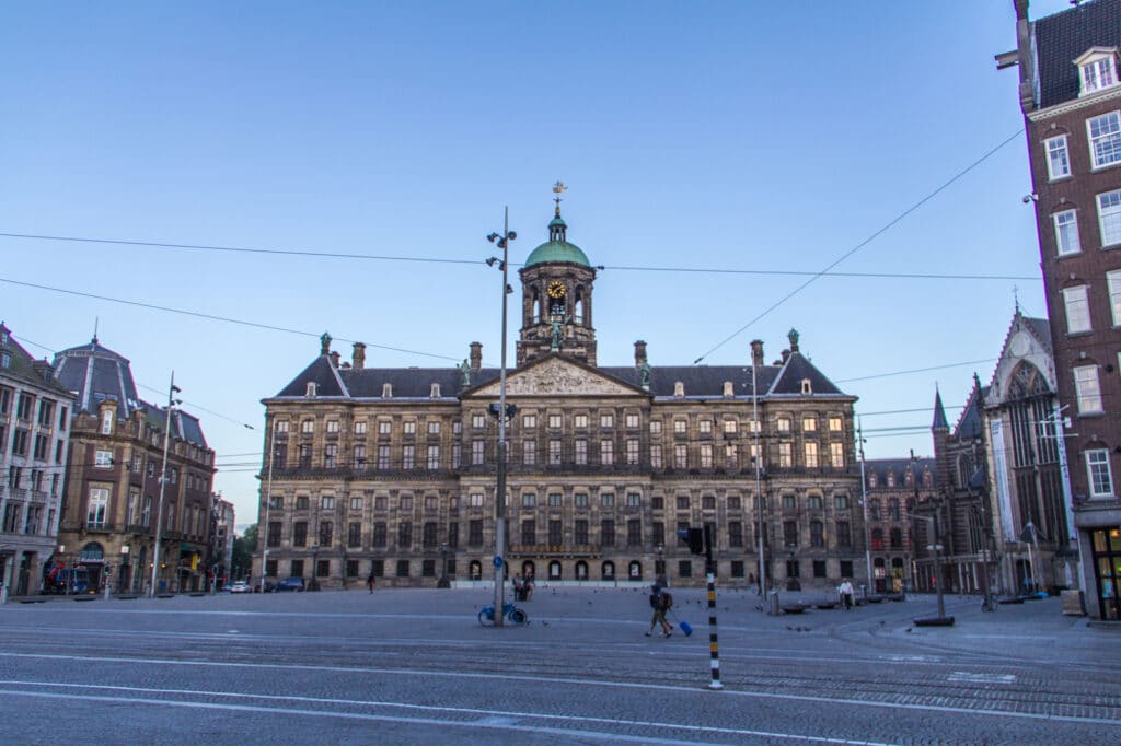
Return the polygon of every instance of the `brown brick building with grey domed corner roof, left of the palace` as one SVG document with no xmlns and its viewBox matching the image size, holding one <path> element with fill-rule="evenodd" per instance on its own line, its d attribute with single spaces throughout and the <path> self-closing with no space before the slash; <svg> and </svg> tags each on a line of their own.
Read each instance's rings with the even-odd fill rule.
<svg viewBox="0 0 1121 746">
<path fill-rule="evenodd" d="M 168 410 L 137 395 L 129 361 L 90 344 L 55 356 L 75 397 L 56 560 L 89 570 L 91 589 L 151 582 Z M 157 590 L 200 590 L 211 554 L 214 451 L 197 418 L 172 408 Z"/>
</svg>

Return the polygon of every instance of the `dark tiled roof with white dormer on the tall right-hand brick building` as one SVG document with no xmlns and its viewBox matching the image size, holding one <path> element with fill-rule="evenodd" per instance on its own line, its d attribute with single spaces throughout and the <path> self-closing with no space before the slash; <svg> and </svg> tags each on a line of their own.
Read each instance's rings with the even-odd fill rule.
<svg viewBox="0 0 1121 746">
<path fill-rule="evenodd" d="M 1074 59 L 1091 47 L 1121 46 L 1121 0 L 1094 0 L 1032 24 L 1039 108 L 1078 97 Z"/>
</svg>

